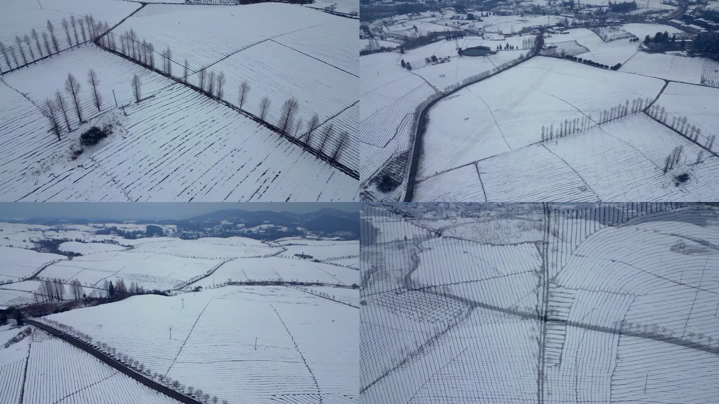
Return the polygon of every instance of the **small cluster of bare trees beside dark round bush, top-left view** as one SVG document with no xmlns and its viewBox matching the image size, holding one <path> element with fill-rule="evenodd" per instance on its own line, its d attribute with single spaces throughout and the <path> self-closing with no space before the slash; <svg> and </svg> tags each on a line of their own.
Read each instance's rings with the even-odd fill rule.
<svg viewBox="0 0 719 404">
<path fill-rule="evenodd" d="M 100 84 L 99 78 L 95 70 L 88 70 L 88 85 L 92 91 L 93 104 L 97 108 L 97 111 L 102 110 L 102 95 L 98 91 Z M 70 117 L 68 114 L 72 114 L 74 109 L 75 115 L 78 118 L 78 126 L 83 124 L 83 107 L 80 99 L 81 84 L 72 73 L 68 73 L 68 78 L 65 79 L 65 94 L 70 98 L 68 101 L 65 98 L 65 94 L 60 90 L 55 91 L 55 97 L 45 98 L 45 102 L 42 104 L 42 114 L 47 118 L 50 123 L 50 131 L 58 137 L 60 140 L 60 134 L 63 133 L 63 121 L 67 132 L 73 130 L 72 124 L 70 124 Z"/>
</svg>

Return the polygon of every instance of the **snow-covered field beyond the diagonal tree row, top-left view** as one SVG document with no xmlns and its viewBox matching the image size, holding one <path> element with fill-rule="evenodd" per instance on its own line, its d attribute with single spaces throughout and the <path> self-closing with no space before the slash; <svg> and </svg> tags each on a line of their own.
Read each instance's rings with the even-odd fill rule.
<svg viewBox="0 0 719 404">
<path fill-rule="evenodd" d="M 244 111 L 260 116 L 260 101 L 267 96 L 265 118 L 276 124 L 283 103 L 296 98 L 297 119 L 306 124 L 317 114 L 321 122 L 335 124 L 328 148 L 339 142 L 342 131 L 356 137 L 352 114 L 341 113 L 357 102 L 357 20 L 270 2 L 130 17 L 114 32 L 129 29 L 157 50 L 169 47 L 177 77 L 183 75 L 185 60 L 192 83 L 201 68 L 224 73 L 224 99 L 238 107 L 239 86 L 247 81 Z M 304 129 L 303 124 L 300 133 Z M 315 138 L 312 144 L 319 148 L 321 139 Z M 353 169 L 358 160 L 352 153 L 340 159 Z"/>
</svg>

